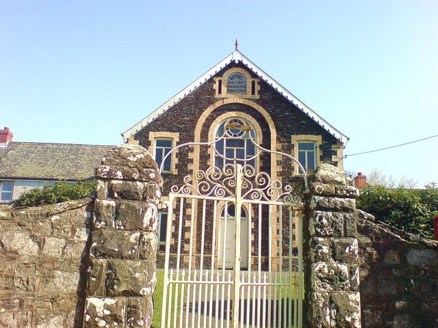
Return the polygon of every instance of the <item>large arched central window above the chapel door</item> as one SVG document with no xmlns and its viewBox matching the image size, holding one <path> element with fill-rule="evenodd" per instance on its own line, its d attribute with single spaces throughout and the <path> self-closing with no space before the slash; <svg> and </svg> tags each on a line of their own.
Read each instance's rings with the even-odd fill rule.
<svg viewBox="0 0 438 328">
<path fill-rule="evenodd" d="M 240 124 L 244 126 L 251 126 L 250 131 L 242 131 L 237 129 L 225 130 L 225 126 L 229 123 Z M 215 155 L 214 165 L 222 169 L 227 164 L 252 165 L 255 167 L 255 159 L 250 159 L 255 155 L 255 146 L 249 139 L 249 133 L 254 141 L 257 141 L 254 127 L 247 120 L 243 118 L 229 118 L 224 120 L 216 131 L 216 139 L 220 139 L 224 135 L 224 139 L 216 142 L 216 149 L 219 154 L 227 157 L 223 159 L 218 154 Z M 246 161 L 245 161 L 246 160 Z"/>
</svg>

